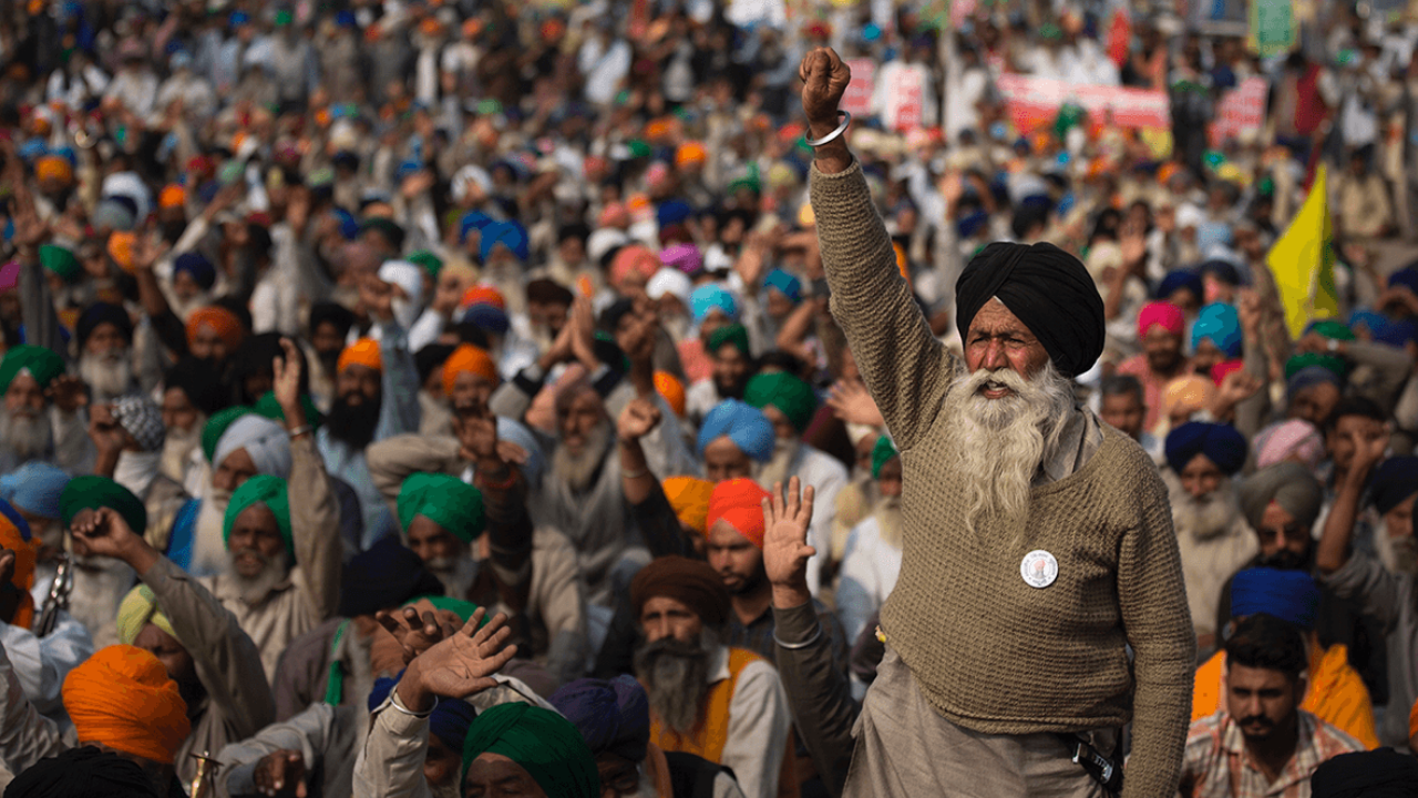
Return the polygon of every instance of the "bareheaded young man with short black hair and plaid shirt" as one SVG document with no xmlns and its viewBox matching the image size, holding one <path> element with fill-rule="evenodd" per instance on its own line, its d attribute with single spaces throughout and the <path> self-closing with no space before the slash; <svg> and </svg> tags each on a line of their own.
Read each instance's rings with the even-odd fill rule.
<svg viewBox="0 0 1418 798">
<path fill-rule="evenodd" d="M 1181 795 L 1309 795 L 1320 763 L 1364 745 L 1300 709 L 1309 652 L 1299 630 L 1272 615 L 1242 621 L 1225 645 L 1225 707 L 1191 724 Z"/>
</svg>

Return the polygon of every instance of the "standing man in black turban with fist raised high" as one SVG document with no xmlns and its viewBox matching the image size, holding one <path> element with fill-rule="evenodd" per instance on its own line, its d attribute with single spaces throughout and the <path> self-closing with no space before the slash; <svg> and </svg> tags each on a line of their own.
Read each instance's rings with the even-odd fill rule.
<svg viewBox="0 0 1418 798">
<path fill-rule="evenodd" d="M 956 284 L 961 364 L 841 136 L 851 71 L 818 48 L 801 77 L 832 317 L 906 452 L 902 571 L 844 795 L 1102 795 L 1069 758 L 1113 755 L 1129 721 L 1124 798 L 1173 794 L 1195 639 L 1166 486 L 1069 383 L 1103 351 L 1093 280 L 1051 244 L 990 244 Z"/>
</svg>

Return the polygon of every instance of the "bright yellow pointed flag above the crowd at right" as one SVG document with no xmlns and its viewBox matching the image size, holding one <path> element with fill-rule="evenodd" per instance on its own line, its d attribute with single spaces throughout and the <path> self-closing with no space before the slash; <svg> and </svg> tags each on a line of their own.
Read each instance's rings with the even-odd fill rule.
<svg viewBox="0 0 1418 798">
<path fill-rule="evenodd" d="M 1320 165 L 1310 186 L 1310 196 L 1295 214 L 1290 227 L 1265 257 L 1275 275 L 1285 325 L 1300 337 L 1313 319 L 1339 315 L 1339 291 L 1334 288 L 1334 241 L 1330 231 L 1324 166 Z"/>
</svg>

